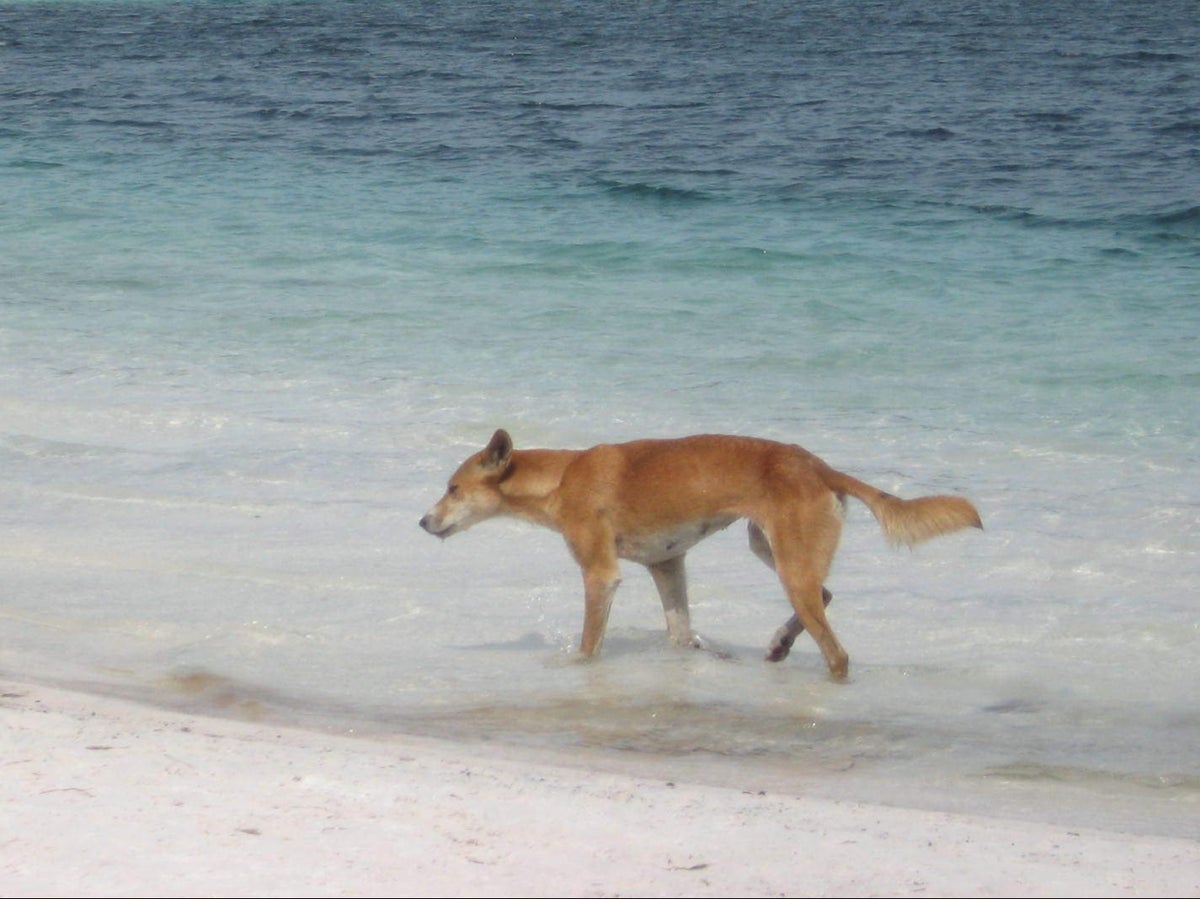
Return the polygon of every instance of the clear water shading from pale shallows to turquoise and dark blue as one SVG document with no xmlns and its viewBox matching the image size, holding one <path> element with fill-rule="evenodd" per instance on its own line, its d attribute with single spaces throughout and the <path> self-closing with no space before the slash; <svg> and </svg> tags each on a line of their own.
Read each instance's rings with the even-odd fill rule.
<svg viewBox="0 0 1200 899">
<path fill-rule="evenodd" d="M 0 677 L 1200 837 L 1194 0 L 0 0 Z M 418 520 L 521 446 L 799 443 L 834 683 L 734 526 Z"/>
</svg>

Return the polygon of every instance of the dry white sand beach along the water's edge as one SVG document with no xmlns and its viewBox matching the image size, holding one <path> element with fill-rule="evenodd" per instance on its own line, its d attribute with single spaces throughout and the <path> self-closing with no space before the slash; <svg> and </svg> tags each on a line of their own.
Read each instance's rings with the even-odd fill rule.
<svg viewBox="0 0 1200 899">
<path fill-rule="evenodd" d="M 1200 895 L 1183 839 L 0 693 L 4 897 Z"/>
</svg>

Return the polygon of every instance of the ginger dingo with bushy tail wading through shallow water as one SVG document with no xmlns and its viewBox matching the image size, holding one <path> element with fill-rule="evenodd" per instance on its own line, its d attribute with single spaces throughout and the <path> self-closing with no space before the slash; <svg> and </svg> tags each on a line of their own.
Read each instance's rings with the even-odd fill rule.
<svg viewBox="0 0 1200 899">
<path fill-rule="evenodd" d="M 750 549 L 773 568 L 794 615 L 767 659 L 787 657 L 808 630 L 829 673 L 845 678 L 850 657 L 826 621 L 833 598 L 824 579 L 841 533 L 846 496 L 865 503 L 893 544 L 913 545 L 965 527 L 982 528 L 966 499 L 918 499 L 876 490 L 805 449 L 752 437 L 698 436 L 601 444 L 587 450 L 514 450 L 503 428 L 458 466 L 445 496 L 421 519 L 440 538 L 497 515 L 559 532 L 583 571 L 580 652 L 604 640 L 620 583 L 617 559 L 646 565 L 662 599 L 667 634 L 698 646 L 688 615 L 684 553 L 738 519 L 750 521 Z"/>
</svg>

